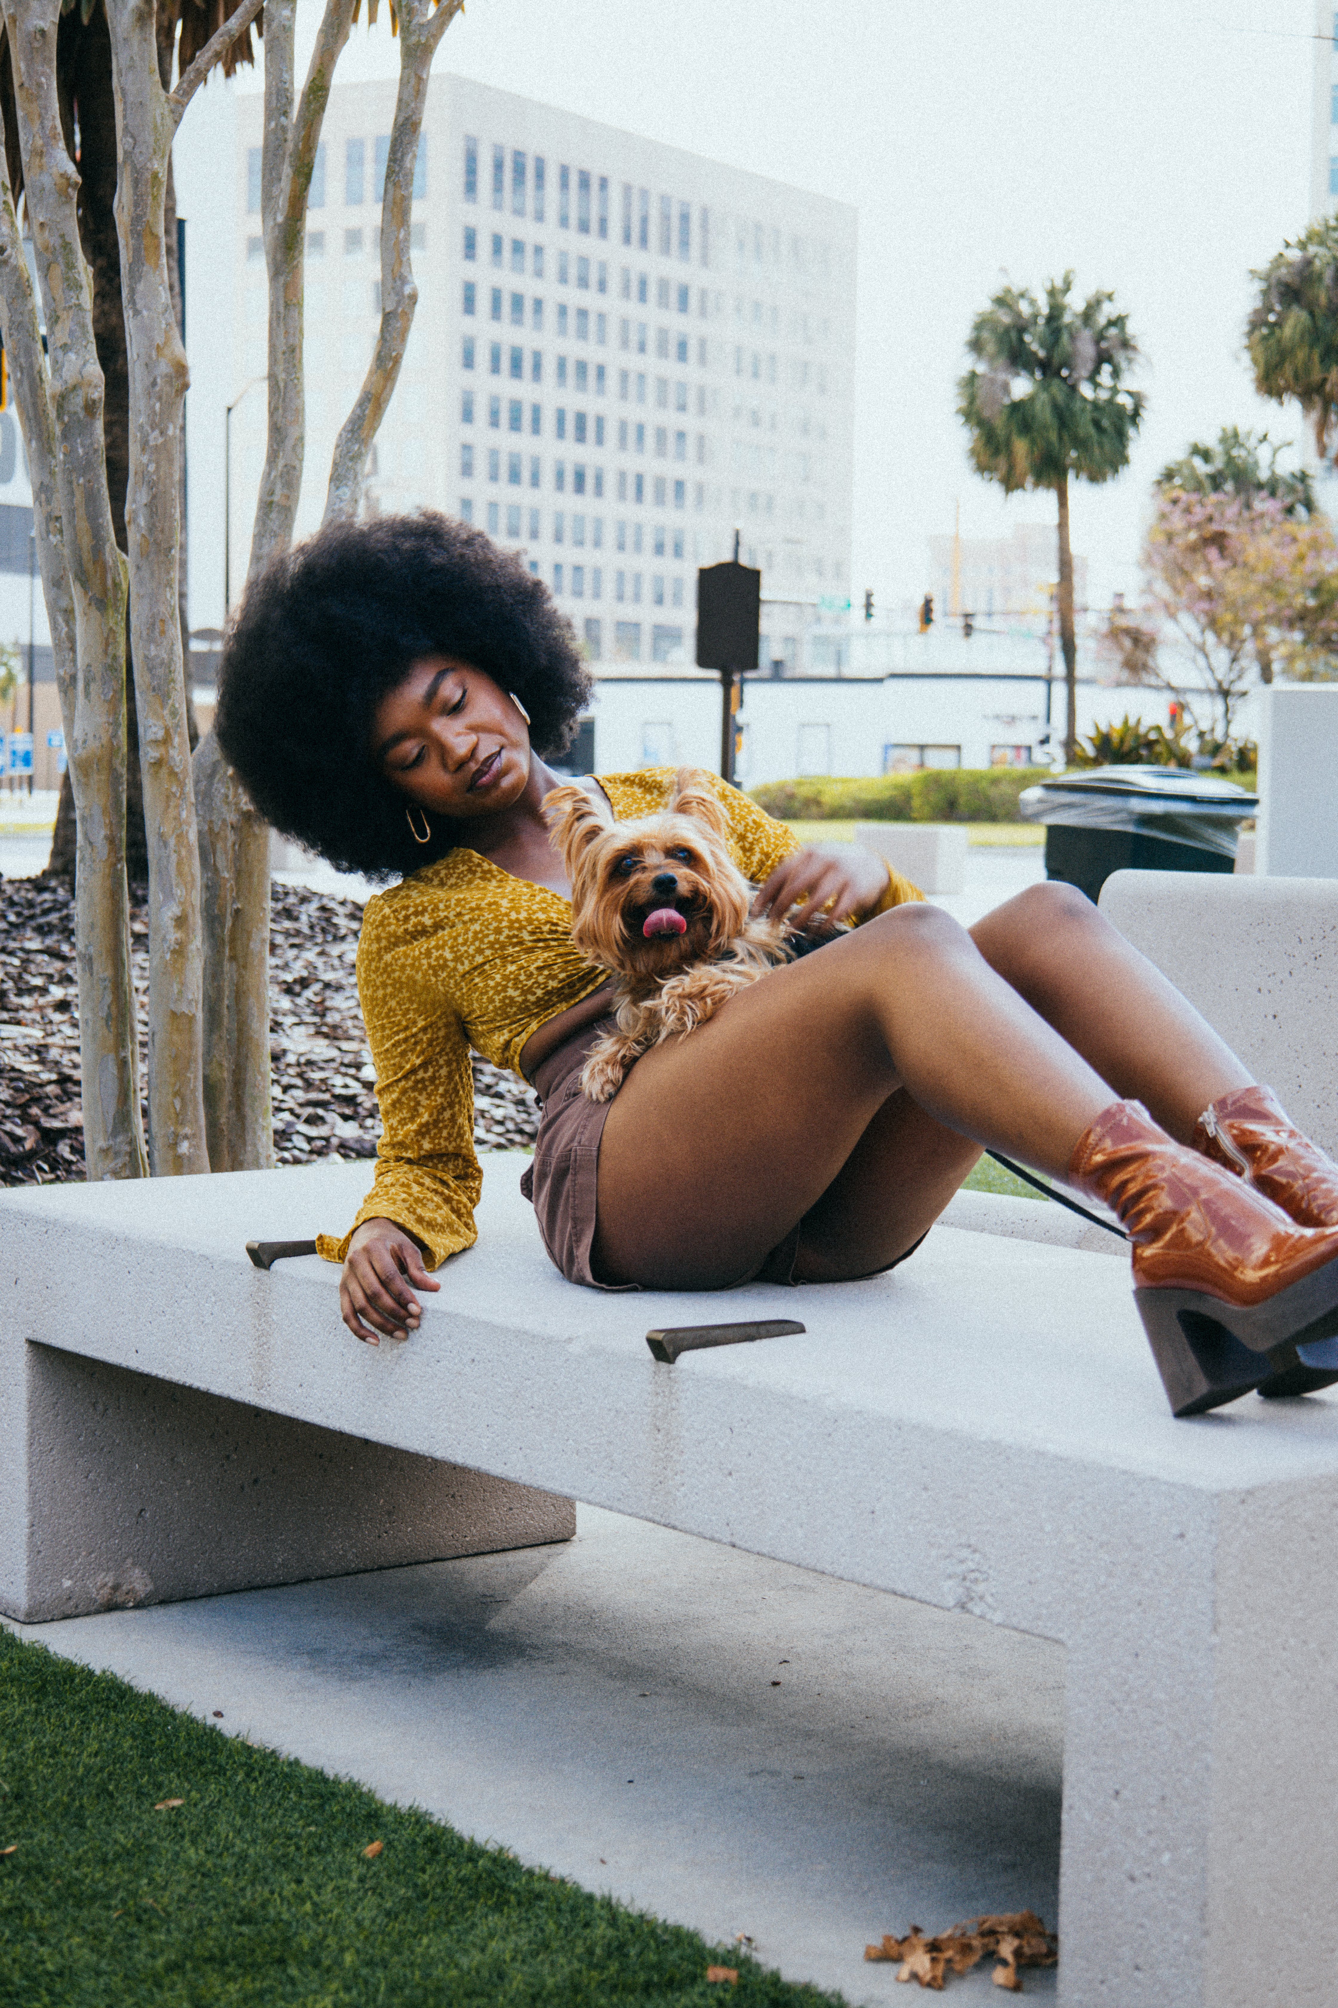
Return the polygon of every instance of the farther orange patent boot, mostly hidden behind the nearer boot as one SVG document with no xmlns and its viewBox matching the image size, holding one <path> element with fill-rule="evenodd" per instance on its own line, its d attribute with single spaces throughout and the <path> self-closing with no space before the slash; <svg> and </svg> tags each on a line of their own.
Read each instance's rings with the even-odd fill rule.
<svg viewBox="0 0 1338 2008">
<path fill-rule="evenodd" d="M 1272 1199 L 1298 1227 L 1338 1227 L 1338 1165 L 1296 1128 L 1272 1088 L 1236 1088 L 1212 1102 L 1198 1118 L 1194 1149 L 1248 1179 L 1256 1193 Z M 1338 1382 L 1338 1343 L 1326 1347 L 1332 1361 L 1294 1363 L 1270 1373 L 1258 1392 L 1270 1402 L 1288 1394 L 1314 1394 Z"/>
</svg>

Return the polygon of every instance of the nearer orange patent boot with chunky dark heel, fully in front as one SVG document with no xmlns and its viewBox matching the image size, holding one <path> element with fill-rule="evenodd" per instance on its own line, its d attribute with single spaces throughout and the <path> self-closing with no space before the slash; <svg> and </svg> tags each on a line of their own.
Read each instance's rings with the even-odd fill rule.
<svg viewBox="0 0 1338 2008">
<path fill-rule="evenodd" d="M 1133 1301 L 1176 1416 L 1200 1416 L 1338 1335 L 1338 1227 L 1296 1227 L 1240 1177 L 1111 1102 L 1069 1183 L 1119 1217 Z M 1300 1351 L 1302 1363 L 1306 1351 Z"/>
</svg>

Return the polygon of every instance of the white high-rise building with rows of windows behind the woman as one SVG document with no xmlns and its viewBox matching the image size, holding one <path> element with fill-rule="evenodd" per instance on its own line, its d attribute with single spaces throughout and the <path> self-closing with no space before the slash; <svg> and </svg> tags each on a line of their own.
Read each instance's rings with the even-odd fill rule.
<svg viewBox="0 0 1338 2008">
<path fill-rule="evenodd" d="M 371 357 L 395 86 L 331 92 L 311 185 L 307 460 L 323 512 L 335 434 Z M 265 371 L 263 100 L 237 98 L 241 339 Z M 524 552 L 596 661 L 692 661 L 696 566 L 762 592 L 849 596 L 855 211 L 457 76 L 427 92 L 413 195 L 419 303 L 369 506 L 461 514 Z M 231 420 L 233 594 L 265 398 Z"/>
</svg>

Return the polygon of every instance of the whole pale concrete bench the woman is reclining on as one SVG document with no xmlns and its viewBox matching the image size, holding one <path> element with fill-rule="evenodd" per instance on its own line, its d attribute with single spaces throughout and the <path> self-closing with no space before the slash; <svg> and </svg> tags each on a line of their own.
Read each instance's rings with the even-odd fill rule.
<svg viewBox="0 0 1338 2008">
<path fill-rule="evenodd" d="M 243 1251 L 347 1219 L 363 1167 L 2 1193 L 0 1606 L 546 1540 L 570 1498 L 895 1590 L 1067 1647 L 1069 2008 L 1326 1998 L 1338 1402 L 1174 1422 L 1123 1263 L 1009 1233 L 832 1289 L 574 1289 L 522 1163 L 379 1349 L 331 1265 Z M 712 1317 L 808 1329 L 650 1357 Z"/>
</svg>

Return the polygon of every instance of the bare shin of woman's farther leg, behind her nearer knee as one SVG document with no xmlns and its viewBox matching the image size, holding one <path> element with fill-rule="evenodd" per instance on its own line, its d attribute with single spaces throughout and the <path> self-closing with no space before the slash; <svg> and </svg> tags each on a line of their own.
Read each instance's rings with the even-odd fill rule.
<svg viewBox="0 0 1338 2008">
<path fill-rule="evenodd" d="M 1031 886 L 971 928 L 993 970 L 1121 1098 L 1190 1143 L 1250 1072 L 1194 1006 L 1073 886 Z"/>
</svg>

